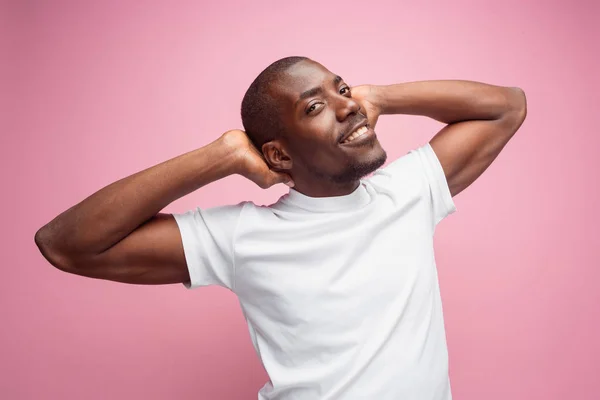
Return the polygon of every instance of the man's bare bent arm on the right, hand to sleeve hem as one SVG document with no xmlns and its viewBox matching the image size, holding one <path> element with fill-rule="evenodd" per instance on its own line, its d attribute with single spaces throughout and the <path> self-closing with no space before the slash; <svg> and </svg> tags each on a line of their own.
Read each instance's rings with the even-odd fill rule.
<svg viewBox="0 0 600 400">
<path fill-rule="evenodd" d="M 371 125 L 379 115 L 423 115 L 447 124 L 430 141 L 452 196 L 496 159 L 527 115 L 520 88 L 472 81 L 421 81 L 352 89 Z"/>
</svg>

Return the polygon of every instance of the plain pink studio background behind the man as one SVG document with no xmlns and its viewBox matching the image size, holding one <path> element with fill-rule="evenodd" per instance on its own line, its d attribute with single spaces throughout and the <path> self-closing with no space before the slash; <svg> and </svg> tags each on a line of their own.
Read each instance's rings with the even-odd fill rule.
<svg viewBox="0 0 600 400">
<path fill-rule="evenodd" d="M 3 4 L 1 398 L 256 398 L 267 376 L 233 294 L 68 275 L 33 236 L 110 182 L 240 127 L 247 86 L 287 55 L 350 84 L 526 91 L 521 130 L 437 231 L 453 393 L 599 398 L 598 2 Z M 393 160 L 439 128 L 392 116 L 378 133 Z M 285 191 L 234 176 L 166 211 Z"/>
</svg>

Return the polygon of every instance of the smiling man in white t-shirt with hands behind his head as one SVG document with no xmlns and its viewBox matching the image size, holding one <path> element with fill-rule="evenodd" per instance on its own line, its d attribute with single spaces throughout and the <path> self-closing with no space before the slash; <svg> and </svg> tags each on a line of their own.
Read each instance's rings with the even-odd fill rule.
<svg viewBox="0 0 600 400">
<path fill-rule="evenodd" d="M 382 114 L 447 125 L 380 168 L 386 153 L 374 128 Z M 35 240 L 66 272 L 232 290 L 270 378 L 259 399 L 448 400 L 433 233 L 525 115 L 518 88 L 350 88 L 315 61 L 285 58 L 248 89 L 246 132 L 228 131 L 101 189 Z M 293 188 L 268 207 L 160 213 L 230 174 Z"/>
</svg>

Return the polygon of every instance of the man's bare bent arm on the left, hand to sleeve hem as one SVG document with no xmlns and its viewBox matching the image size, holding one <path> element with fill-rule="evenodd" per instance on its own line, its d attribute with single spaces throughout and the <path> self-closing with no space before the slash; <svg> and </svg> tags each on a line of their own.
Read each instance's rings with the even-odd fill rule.
<svg viewBox="0 0 600 400">
<path fill-rule="evenodd" d="M 261 157 L 244 132 L 228 131 L 207 146 L 97 191 L 42 227 L 35 243 L 65 272 L 135 284 L 189 282 L 175 219 L 159 212 L 230 174 L 263 188 L 289 180 L 269 170 Z"/>
</svg>

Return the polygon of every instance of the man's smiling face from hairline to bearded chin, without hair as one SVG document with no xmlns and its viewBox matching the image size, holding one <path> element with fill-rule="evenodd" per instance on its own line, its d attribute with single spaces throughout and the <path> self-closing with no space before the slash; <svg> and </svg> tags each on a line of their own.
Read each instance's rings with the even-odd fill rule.
<svg viewBox="0 0 600 400">
<path fill-rule="evenodd" d="M 344 184 L 385 162 L 387 155 L 349 85 L 321 64 L 306 60 L 291 66 L 270 90 L 281 99 L 282 143 L 293 175 Z M 361 137 L 343 142 L 357 130 Z"/>
</svg>

